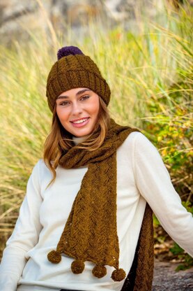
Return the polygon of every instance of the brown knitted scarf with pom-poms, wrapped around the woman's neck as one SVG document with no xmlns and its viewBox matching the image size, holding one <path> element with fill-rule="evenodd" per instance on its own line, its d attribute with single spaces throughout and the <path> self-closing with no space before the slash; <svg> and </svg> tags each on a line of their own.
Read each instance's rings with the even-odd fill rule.
<svg viewBox="0 0 193 291">
<path fill-rule="evenodd" d="M 84 262 L 95 263 L 93 275 L 102 278 L 107 274 L 105 265 L 114 267 L 111 274 L 114 281 L 122 281 L 126 274 L 119 269 L 119 246 L 116 225 L 116 150 L 131 132 L 138 131 L 130 127 L 117 125 L 111 119 L 110 126 L 102 146 L 97 150 L 88 151 L 73 146 L 65 150 L 59 164 L 66 169 L 88 165 L 82 185 L 72 205 L 72 210 L 59 239 L 56 250 L 47 255 L 52 263 L 61 261 L 64 253 L 73 257 L 71 269 L 74 274 L 84 270 Z M 91 139 L 97 133 L 93 133 Z M 142 223 L 142 235 L 139 236 L 139 269 L 143 276 L 148 275 L 148 282 L 152 281 L 149 272 L 149 254 L 152 255 L 153 233 L 150 208 L 146 207 Z M 143 227 L 145 225 L 145 229 Z M 144 229 L 144 232 L 143 232 Z M 149 230 L 150 229 L 150 230 Z M 147 232 L 146 232 L 147 231 Z M 140 242 L 141 240 L 141 242 Z M 140 249 L 139 248 L 139 249 Z M 128 246 L 128 251 L 129 251 Z M 140 255 L 141 254 L 141 255 Z M 145 265 L 144 265 L 145 264 Z M 152 261 L 150 261 L 152 265 Z M 153 270 L 151 267 L 150 270 Z M 137 272 L 135 275 L 137 277 Z M 126 282 L 126 281 L 125 281 Z M 148 289 L 140 289 L 140 291 Z"/>
</svg>

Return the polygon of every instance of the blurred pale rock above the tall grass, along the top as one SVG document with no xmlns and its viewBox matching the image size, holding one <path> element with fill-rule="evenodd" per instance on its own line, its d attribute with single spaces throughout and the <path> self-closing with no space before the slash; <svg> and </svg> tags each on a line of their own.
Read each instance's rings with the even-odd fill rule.
<svg viewBox="0 0 193 291">
<path fill-rule="evenodd" d="M 157 13 L 162 14 L 162 8 L 163 2 L 157 0 L 1 0 L 0 36 L 3 43 L 9 43 L 27 35 L 28 30 L 47 29 L 49 21 L 56 31 L 65 31 L 70 24 L 77 36 L 80 27 L 88 29 L 89 20 L 102 22 L 102 29 L 121 23 L 125 29 L 136 31 L 141 13 L 153 20 Z"/>
</svg>

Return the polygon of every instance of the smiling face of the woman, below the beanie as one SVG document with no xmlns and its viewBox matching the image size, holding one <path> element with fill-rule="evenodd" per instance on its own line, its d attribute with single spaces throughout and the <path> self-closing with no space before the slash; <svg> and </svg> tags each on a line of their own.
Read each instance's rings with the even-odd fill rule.
<svg viewBox="0 0 193 291">
<path fill-rule="evenodd" d="M 93 132 L 99 107 L 98 94 L 88 88 L 65 91 L 56 99 L 56 113 L 61 125 L 77 137 Z"/>
</svg>

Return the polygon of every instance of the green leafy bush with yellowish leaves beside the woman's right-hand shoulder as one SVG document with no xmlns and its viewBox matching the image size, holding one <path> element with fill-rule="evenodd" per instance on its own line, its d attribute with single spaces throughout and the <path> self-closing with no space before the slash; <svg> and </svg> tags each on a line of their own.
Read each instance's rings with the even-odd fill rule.
<svg viewBox="0 0 193 291">
<path fill-rule="evenodd" d="M 176 105 L 169 115 L 157 114 L 146 122 L 150 139 L 164 158 L 176 190 L 186 201 L 192 201 L 192 125 L 191 108 Z"/>
</svg>

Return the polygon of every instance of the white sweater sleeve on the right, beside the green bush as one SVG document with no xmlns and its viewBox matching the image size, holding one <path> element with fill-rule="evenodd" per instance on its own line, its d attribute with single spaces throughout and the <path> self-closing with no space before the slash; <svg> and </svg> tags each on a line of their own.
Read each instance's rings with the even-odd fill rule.
<svg viewBox="0 0 193 291">
<path fill-rule="evenodd" d="M 137 187 L 166 232 L 193 257 L 193 217 L 181 204 L 159 152 L 144 136 L 137 134 L 134 145 Z"/>
</svg>

